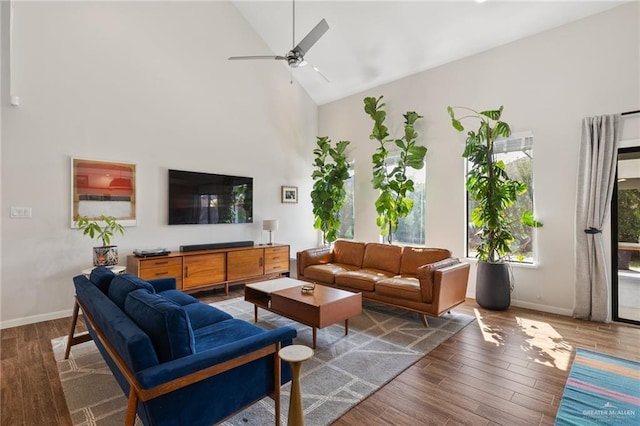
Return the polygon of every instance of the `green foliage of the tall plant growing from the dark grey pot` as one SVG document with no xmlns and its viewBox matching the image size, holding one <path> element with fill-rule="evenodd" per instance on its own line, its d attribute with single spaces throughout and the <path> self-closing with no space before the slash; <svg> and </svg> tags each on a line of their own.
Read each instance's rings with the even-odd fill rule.
<svg viewBox="0 0 640 426">
<path fill-rule="evenodd" d="M 467 114 L 457 118 L 455 110 Z M 528 190 L 525 182 L 510 179 L 504 162 L 495 159 L 493 149 L 496 139 L 509 137 L 511 128 L 501 121 L 502 106 L 497 110 L 481 112 L 466 107 L 447 107 L 447 111 L 452 126 L 460 132 L 464 131 L 462 120 L 479 121 L 477 130 L 467 132 L 462 154 L 472 165 L 467 172 L 466 187 L 476 203 L 471 212 L 471 221 L 479 230 L 477 235 L 481 241 L 476 257 L 489 263 L 500 262 L 511 253 L 510 246 L 514 239 L 507 209 Z M 526 226 L 542 226 L 529 210 L 522 213 L 520 221 Z"/>
</svg>

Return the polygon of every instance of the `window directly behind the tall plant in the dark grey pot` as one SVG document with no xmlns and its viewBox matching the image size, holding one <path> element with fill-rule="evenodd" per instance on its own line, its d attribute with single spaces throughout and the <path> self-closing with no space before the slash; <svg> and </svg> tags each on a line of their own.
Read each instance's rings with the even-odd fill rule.
<svg viewBox="0 0 640 426">
<path fill-rule="evenodd" d="M 527 184 L 529 190 L 518 198 L 516 203 L 509 207 L 507 216 L 513 223 L 511 233 L 511 262 L 533 263 L 535 259 L 533 237 L 535 228 L 523 225 L 520 222 L 522 212 L 533 210 L 533 135 L 531 133 L 511 135 L 508 139 L 498 140 L 494 143 L 495 160 L 502 160 L 505 170 L 511 179 L 521 180 Z M 467 169 L 470 169 L 467 164 Z M 471 212 L 475 203 L 467 196 L 467 257 L 476 256 L 476 248 L 480 240 L 476 235 L 477 230 L 471 222 Z"/>
</svg>

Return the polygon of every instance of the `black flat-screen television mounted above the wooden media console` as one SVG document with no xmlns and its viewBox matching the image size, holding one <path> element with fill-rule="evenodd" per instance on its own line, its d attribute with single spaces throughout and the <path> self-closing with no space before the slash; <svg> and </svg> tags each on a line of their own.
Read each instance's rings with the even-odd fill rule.
<svg viewBox="0 0 640 426">
<path fill-rule="evenodd" d="M 169 225 L 252 222 L 253 178 L 169 170 Z"/>
</svg>

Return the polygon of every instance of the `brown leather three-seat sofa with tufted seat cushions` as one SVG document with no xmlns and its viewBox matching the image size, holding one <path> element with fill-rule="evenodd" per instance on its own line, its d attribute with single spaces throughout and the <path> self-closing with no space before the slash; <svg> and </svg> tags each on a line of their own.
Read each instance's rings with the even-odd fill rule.
<svg viewBox="0 0 640 426">
<path fill-rule="evenodd" d="M 469 264 L 439 248 L 338 240 L 297 253 L 298 279 L 361 292 L 387 305 L 441 316 L 464 302 Z"/>
</svg>

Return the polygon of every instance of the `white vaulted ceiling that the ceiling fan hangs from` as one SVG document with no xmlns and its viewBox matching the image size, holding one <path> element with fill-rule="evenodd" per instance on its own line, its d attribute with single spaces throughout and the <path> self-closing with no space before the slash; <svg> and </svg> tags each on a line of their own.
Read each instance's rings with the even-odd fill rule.
<svg viewBox="0 0 640 426">
<path fill-rule="evenodd" d="M 268 46 L 237 55 L 284 55 L 322 18 L 327 20 L 330 29 L 305 55 L 309 64 L 293 70 L 293 78 L 322 105 L 625 2 L 297 0 L 295 44 L 292 1 L 233 3 Z M 251 61 L 246 66 L 287 65 Z"/>
</svg>

